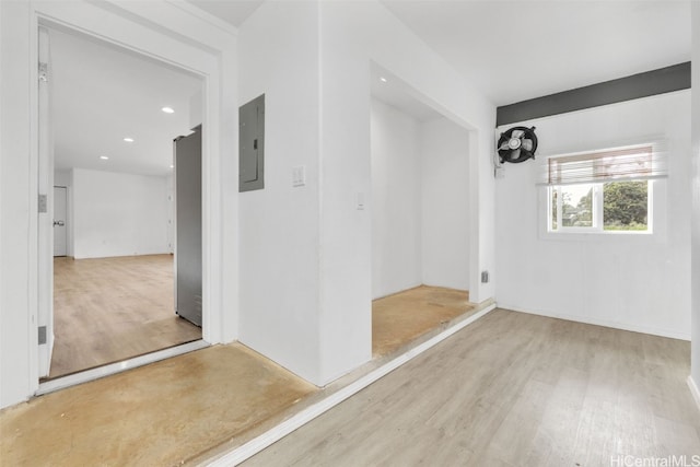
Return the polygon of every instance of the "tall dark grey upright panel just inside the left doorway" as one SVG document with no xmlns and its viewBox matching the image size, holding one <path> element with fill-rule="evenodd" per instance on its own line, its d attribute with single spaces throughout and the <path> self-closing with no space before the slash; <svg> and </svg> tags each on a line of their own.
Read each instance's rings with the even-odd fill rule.
<svg viewBox="0 0 700 467">
<path fill-rule="evenodd" d="M 201 126 L 175 140 L 175 313 L 201 326 Z"/>
</svg>

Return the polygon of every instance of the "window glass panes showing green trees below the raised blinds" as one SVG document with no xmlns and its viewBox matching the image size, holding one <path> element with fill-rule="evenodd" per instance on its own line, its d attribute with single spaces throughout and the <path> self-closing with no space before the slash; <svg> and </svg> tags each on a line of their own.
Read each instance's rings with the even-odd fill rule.
<svg viewBox="0 0 700 467">
<path fill-rule="evenodd" d="M 596 197 L 602 197 L 603 215 Z M 560 206 L 559 206 L 560 205 Z M 562 227 L 597 227 L 604 231 L 646 231 L 649 224 L 649 183 L 608 182 L 559 186 L 551 190 L 551 230 L 557 231 L 559 215 Z"/>
</svg>

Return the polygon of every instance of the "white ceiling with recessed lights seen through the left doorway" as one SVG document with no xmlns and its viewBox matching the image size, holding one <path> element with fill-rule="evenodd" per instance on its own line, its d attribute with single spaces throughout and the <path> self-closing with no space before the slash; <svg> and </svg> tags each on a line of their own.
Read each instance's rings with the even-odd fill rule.
<svg viewBox="0 0 700 467">
<path fill-rule="evenodd" d="M 170 174 L 173 139 L 189 133 L 201 80 L 78 33 L 49 37 L 56 170 Z"/>
</svg>

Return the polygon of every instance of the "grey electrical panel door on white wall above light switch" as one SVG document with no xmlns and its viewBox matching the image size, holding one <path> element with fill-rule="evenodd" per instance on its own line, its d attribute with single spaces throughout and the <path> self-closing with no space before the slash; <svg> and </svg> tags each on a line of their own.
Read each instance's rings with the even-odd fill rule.
<svg viewBox="0 0 700 467">
<path fill-rule="evenodd" d="M 265 187 L 265 94 L 238 108 L 238 191 Z"/>
</svg>

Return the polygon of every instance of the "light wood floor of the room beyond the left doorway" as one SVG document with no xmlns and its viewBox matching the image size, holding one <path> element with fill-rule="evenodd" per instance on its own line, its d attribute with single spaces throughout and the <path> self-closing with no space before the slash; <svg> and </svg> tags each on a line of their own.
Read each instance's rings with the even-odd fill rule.
<svg viewBox="0 0 700 467">
<path fill-rule="evenodd" d="M 55 258 L 49 377 L 200 339 L 174 310 L 172 255 Z"/>
</svg>

